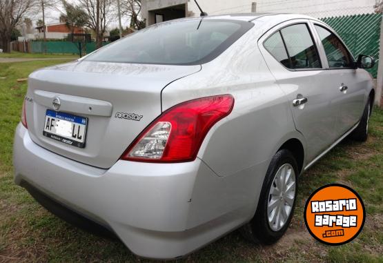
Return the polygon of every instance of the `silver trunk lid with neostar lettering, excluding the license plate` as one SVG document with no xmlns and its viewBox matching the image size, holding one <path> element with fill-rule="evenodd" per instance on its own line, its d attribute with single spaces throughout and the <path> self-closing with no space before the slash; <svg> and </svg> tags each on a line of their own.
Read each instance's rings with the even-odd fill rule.
<svg viewBox="0 0 383 263">
<path fill-rule="evenodd" d="M 161 90 L 170 82 L 200 69 L 199 65 L 76 61 L 37 70 L 28 79 L 27 97 L 32 98 L 26 101 L 30 136 L 37 144 L 59 155 L 109 168 L 141 130 L 161 114 Z M 43 136 L 46 110 L 53 110 L 53 97 L 63 102 L 60 110 L 88 118 L 85 148 Z M 135 114 L 141 119 L 119 118 L 117 113 Z"/>
</svg>

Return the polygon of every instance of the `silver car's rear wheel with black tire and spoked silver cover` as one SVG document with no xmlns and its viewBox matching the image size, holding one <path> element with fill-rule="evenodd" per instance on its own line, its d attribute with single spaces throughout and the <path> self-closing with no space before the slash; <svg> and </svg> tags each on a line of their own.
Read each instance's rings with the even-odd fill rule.
<svg viewBox="0 0 383 263">
<path fill-rule="evenodd" d="M 273 244 L 284 235 L 295 207 L 297 167 L 289 150 L 279 150 L 274 155 L 264 179 L 257 211 L 251 222 L 241 228 L 246 240 Z"/>
</svg>

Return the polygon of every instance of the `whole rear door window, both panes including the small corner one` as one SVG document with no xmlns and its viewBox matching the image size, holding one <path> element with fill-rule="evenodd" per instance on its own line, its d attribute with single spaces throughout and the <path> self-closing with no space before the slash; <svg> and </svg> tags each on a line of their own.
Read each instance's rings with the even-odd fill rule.
<svg viewBox="0 0 383 263">
<path fill-rule="evenodd" d="M 305 23 L 275 32 L 264 42 L 264 47 L 286 68 L 322 68 L 317 48 Z"/>
</svg>

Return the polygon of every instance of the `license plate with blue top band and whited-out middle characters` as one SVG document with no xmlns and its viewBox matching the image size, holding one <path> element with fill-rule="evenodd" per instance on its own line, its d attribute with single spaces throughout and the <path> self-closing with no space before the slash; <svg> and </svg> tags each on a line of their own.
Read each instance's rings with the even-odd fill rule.
<svg viewBox="0 0 383 263">
<path fill-rule="evenodd" d="M 88 118 L 46 110 L 43 135 L 64 144 L 85 147 Z"/>
</svg>

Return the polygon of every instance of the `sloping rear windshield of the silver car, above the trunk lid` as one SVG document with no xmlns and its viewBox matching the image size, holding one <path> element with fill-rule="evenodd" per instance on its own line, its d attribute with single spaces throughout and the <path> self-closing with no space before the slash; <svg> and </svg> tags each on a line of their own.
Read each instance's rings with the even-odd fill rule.
<svg viewBox="0 0 383 263">
<path fill-rule="evenodd" d="M 86 61 L 196 65 L 215 59 L 253 23 L 201 19 L 168 21 L 139 30 L 86 57 Z"/>
</svg>

